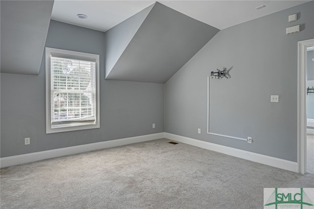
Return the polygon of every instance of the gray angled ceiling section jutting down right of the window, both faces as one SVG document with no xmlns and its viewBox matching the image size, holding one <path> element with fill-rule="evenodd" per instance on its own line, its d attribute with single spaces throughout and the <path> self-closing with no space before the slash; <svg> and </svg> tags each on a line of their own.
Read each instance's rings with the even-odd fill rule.
<svg viewBox="0 0 314 209">
<path fill-rule="evenodd" d="M 219 31 L 158 2 L 130 19 L 105 32 L 106 79 L 165 83 Z"/>
</svg>

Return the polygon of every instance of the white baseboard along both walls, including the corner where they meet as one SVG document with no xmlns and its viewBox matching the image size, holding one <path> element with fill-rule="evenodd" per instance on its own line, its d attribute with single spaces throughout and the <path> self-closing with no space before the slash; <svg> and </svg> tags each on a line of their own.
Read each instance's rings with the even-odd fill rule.
<svg viewBox="0 0 314 209">
<path fill-rule="evenodd" d="M 78 146 L 73 146 L 73 147 L 65 147 L 65 148 L 60 148 L 60 149 L 29 153 L 29 154 L 24 154 L 24 155 L 1 157 L 0 167 L 3 168 L 3 167 L 12 166 L 12 165 L 34 162 L 34 161 L 38 161 L 42 159 L 48 159 L 52 157 L 74 155 L 74 154 L 84 153 L 84 152 L 93 151 L 93 150 L 101 150 L 105 148 L 118 147 L 118 146 L 138 143 L 138 142 L 151 141 L 151 140 L 155 140 L 159 138 L 168 138 L 170 140 L 182 142 L 185 144 L 204 148 L 207 150 L 212 150 L 212 151 L 223 153 L 226 155 L 251 160 L 254 162 L 259 162 L 265 165 L 282 168 L 282 169 L 293 171 L 293 172 L 298 172 L 296 162 L 292 162 L 292 161 L 288 161 L 288 160 L 280 159 L 276 157 L 269 157 L 269 156 L 265 156 L 265 155 L 261 155 L 257 153 L 252 153 L 252 152 L 248 152 L 244 150 L 239 150 L 239 149 L 235 149 L 235 148 L 231 148 L 231 147 L 227 147 L 223 145 L 213 144 L 210 142 L 192 139 L 185 136 L 180 136 L 180 135 L 166 133 L 166 132 L 135 136 L 135 137 L 123 138 L 123 139 L 115 139 L 115 140 L 110 140 L 110 141 L 84 144 L 84 145 L 78 145 Z"/>
</svg>

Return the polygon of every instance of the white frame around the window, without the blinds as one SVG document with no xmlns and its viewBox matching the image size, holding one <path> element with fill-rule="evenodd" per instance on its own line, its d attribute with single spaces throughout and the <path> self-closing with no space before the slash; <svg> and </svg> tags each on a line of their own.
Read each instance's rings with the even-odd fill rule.
<svg viewBox="0 0 314 209">
<path fill-rule="evenodd" d="M 78 131 L 86 129 L 97 129 L 100 128 L 100 105 L 99 105 L 99 55 L 74 52 L 68 50 L 60 50 L 54 48 L 45 48 L 46 50 L 46 133 L 56 133 L 65 131 Z M 96 111 L 95 122 L 91 123 L 68 123 L 62 125 L 52 125 L 51 116 L 51 101 L 52 101 L 52 90 L 51 90 L 51 56 L 58 55 L 66 58 L 78 59 L 78 60 L 89 60 L 96 62 Z"/>
</svg>

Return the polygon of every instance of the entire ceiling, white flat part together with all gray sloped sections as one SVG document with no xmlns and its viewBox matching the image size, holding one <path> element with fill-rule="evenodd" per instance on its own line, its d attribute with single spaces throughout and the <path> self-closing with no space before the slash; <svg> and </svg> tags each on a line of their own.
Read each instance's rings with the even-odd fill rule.
<svg viewBox="0 0 314 209">
<path fill-rule="evenodd" d="M 1 0 L 0 72 L 38 75 L 53 19 L 105 32 L 106 79 L 164 83 L 219 29 L 307 1 Z"/>
</svg>

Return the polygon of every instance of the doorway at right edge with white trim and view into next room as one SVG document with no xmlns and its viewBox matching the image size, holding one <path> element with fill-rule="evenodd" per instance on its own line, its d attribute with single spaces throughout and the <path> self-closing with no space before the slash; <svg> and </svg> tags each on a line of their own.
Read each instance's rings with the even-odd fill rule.
<svg viewBox="0 0 314 209">
<path fill-rule="evenodd" d="M 298 171 L 314 173 L 314 39 L 298 42 Z M 313 81 L 312 81 L 313 80 Z M 314 99 L 314 98 L 313 98 Z M 313 100 L 314 102 L 314 100 Z M 309 122 L 309 123 L 308 123 Z M 312 140 L 313 139 L 313 140 Z"/>
</svg>

